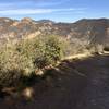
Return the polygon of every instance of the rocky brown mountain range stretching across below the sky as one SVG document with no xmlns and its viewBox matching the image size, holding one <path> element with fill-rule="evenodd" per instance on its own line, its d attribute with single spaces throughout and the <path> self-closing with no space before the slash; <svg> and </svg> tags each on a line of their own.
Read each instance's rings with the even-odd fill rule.
<svg viewBox="0 0 109 109">
<path fill-rule="evenodd" d="M 21 21 L 0 17 L 0 44 L 50 34 L 64 37 L 71 43 L 78 39 L 87 44 L 106 45 L 109 43 L 109 20 L 83 19 L 75 23 L 56 23 L 50 20 L 35 21 L 29 17 Z"/>
</svg>

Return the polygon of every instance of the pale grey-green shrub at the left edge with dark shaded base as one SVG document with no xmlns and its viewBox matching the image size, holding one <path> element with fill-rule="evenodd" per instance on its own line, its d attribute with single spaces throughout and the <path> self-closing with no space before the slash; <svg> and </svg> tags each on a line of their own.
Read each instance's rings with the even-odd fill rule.
<svg viewBox="0 0 109 109">
<path fill-rule="evenodd" d="M 32 61 L 17 52 L 15 47 L 0 49 L 0 85 L 16 83 L 22 75 L 28 76 L 33 70 Z"/>
</svg>

